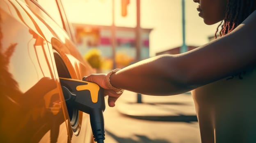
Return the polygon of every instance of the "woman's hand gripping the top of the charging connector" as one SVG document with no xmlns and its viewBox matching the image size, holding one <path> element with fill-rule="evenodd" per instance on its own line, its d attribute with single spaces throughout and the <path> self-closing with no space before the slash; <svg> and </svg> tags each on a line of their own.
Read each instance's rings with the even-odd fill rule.
<svg viewBox="0 0 256 143">
<path fill-rule="evenodd" d="M 83 80 L 93 82 L 98 84 L 100 87 L 103 88 L 103 94 L 104 96 L 108 96 L 107 103 L 110 107 L 115 106 L 115 102 L 117 101 L 117 98 L 121 96 L 121 94 L 117 94 L 112 89 L 108 88 L 105 83 L 106 74 L 91 74 L 87 77 L 84 77 Z"/>
</svg>

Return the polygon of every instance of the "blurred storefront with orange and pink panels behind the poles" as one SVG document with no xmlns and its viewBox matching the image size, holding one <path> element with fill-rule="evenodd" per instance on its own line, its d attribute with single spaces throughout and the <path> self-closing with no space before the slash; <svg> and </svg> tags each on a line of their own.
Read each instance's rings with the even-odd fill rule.
<svg viewBox="0 0 256 143">
<path fill-rule="evenodd" d="M 77 47 L 82 56 L 88 56 L 91 50 L 98 50 L 102 60 L 101 70 L 112 69 L 111 26 L 73 23 Z M 149 58 L 149 34 L 152 29 L 141 29 L 141 59 Z M 115 27 L 115 61 L 117 68 L 122 68 L 136 61 L 135 28 Z"/>
</svg>

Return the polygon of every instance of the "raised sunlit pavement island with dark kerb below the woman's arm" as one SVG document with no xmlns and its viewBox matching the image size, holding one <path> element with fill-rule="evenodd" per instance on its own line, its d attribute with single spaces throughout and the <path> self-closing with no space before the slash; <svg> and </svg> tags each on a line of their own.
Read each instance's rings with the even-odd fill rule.
<svg viewBox="0 0 256 143">
<path fill-rule="evenodd" d="M 197 121 L 194 101 L 190 92 L 174 96 L 149 96 L 142 94 L 137 103 L 137 93 L 124 91 L 116 102 L 119 113 L 132 118 L 151 121 Z"/>
</svg>

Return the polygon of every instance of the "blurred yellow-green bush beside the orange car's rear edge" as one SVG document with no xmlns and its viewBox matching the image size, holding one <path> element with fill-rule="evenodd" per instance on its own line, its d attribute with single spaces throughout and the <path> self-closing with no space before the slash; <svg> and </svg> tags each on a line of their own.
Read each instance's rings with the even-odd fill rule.
<svg viewBox="0 0 256 143">
<path fill-rule="evenodd" d="M 101 69 L 102 59 L 101 51 L 99 49 L 93 48 L 87 54 L 85 54 L 85 60 L 91 65 L 91 67 L 99 70 Z"/>
</svg>

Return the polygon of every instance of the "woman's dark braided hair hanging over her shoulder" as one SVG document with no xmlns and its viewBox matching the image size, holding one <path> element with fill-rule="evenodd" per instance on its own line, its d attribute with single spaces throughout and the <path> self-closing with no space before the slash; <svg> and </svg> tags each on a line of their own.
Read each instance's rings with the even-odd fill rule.
<svg viewBox="0 0 256 143">
<path fill-rule="evenodd" d="M 219 31 L 220 37 L 235 29 L 253 12 L 255 2 L 256 0 L 227 0 L 226 14 L 224 20 L 217 27 L 215 39 L 223 21 L 222 29 Z"/>
</svg>

